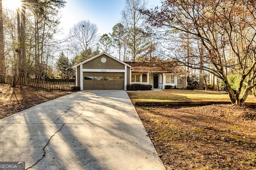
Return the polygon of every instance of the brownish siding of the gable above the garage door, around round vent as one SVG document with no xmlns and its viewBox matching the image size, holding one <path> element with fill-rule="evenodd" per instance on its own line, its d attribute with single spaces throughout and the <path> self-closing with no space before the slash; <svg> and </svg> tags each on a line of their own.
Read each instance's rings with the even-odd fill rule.
<svg viewBox="0 0 256 170">
<path fill-rule="evenodd" d="M 101 62 L 102 57 L 106 58 L 107 60 L 106 63 Z M 97 57 L 94 60 L 84 63 L 83 69 L 122 69 L 124 70 L 124 64 L 119 63 L 118 61 L 106 55 L 102 55 L 100 57 Z"/>
</svg>

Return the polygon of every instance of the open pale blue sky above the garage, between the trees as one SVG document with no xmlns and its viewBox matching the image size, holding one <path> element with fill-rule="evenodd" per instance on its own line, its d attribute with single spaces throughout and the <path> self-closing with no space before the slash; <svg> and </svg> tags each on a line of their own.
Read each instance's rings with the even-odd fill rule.
<svg viewBox="0 0 256 170">
<path fill-rule="evenodd" d="M 60 27 L 64 33 L 81 20 L 90 20 L 98 26 L 99 35 L 112 32 L 112 27 L 121 20 L 125 0 L 66 0 L 62 9 Z M 160 0 L 148 0 L 148 8 L 160 6 Z"/>
</svg>

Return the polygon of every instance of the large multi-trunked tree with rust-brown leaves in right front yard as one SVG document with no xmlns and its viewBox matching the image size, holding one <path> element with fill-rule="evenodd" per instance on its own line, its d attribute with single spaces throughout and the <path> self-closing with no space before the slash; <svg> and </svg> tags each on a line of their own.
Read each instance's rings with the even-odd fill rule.
<svg viewBox="0 0 256 170">
<path fill-rule="evenodd" d="M 164 0 L 161 8 L 145 10 L 154 26 L 188 33 L 200 40 L 206 54 L 186 63 L 186 56 L 169 56 L 194 69 L 204 69 L 220 78 L 233 104 L 243 105 L 250 90 L 256 86 L 256 2 L 236 0 Z M 188 26 L 186 23 L 188 20 Z M 240 79 L 234 93 L 228 73 Z M 243 84 L 246 85 L 242 96 Z"/>
</svg>

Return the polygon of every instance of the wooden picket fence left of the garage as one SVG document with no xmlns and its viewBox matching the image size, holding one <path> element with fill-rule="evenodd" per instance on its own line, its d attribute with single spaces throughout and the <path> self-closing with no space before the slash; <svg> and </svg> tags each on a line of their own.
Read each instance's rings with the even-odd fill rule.
<svg viewBox="0 0 256 170">
<path fill-rule="evenodd" d="M 32 86 L 38 88 L 40 90 L 63 90 L 68 91 L 72 90 L 72 87 L 76 86 L 75 82 L 71 81 L 54 81 L 54 80 L 42 80 L 42 79 L 35 79 L 35 78 L 17 78 L 14 80 L 12 76 L 0 76 L 0 83 L 2 84 L 13 84 L 16 82 L 17 85 L 22 86 Z"/>
</svg>

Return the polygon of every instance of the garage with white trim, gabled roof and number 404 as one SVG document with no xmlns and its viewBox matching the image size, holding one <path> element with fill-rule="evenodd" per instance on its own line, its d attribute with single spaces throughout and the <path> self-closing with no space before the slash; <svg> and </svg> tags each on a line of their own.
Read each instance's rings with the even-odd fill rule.
<svg viewBox="0 0 256 170">
<path fill-rule="evenodd" d="M 131 66 L 104 52 L 74 68 L 81 90 L 126 90 L 130 84 Z"/>
</svg>

